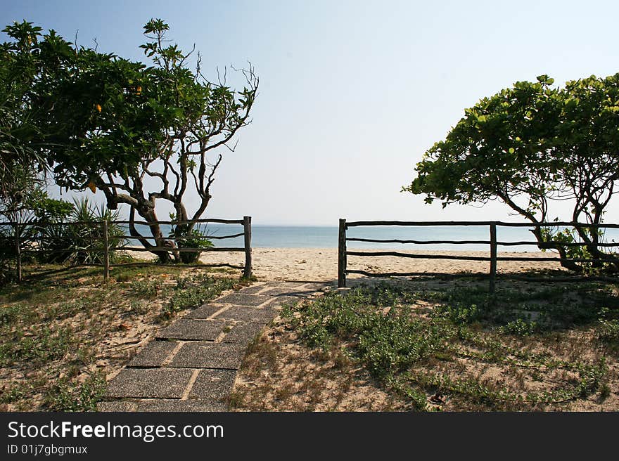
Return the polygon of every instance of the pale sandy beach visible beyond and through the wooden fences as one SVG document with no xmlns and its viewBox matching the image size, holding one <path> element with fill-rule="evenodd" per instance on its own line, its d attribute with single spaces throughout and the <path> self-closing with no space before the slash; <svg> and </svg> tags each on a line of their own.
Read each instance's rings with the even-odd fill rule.
<svg viewBox="0 0 619 461">
<path fill-rule="evenodd" d="M 357 250 L 355 250 L 357 251 Z M 358 250 L 358 251 L 376 251 Z M 404 251 L 412 253 L 410 251 Z M 461 256 L 487 257 L 487 252 L 447 252 L 426 251 L 416 254 L 457 254 Z M 132 252 L 132 256 L 146 257 L 151 254 Z M 542 252 L 499 252 L 499 257 L 554 257 L 553 253 Z M 331 281 L 338 278 L 337 248 L 254 248 L 253 274 L 258 280 L 302 280 Z M 245 254 L 241 252 L 206 252 L 200 257 L 205 264 L 229 263 L 242 266 Z M 422 273 L 487 273 L 490 263 L 487 261 L 462 261 L 451 259 L 411 259 L 401 257 L 348 257 L 348 268 L 372 273 L 385 272 L 422 272 Z M 521 272 L 531 269 L 560 269 L 559 263 L 553 261 L 499 261 L 497 272 Z M 362 275 L 350 274 L 349 278 Z"/>
</svg>

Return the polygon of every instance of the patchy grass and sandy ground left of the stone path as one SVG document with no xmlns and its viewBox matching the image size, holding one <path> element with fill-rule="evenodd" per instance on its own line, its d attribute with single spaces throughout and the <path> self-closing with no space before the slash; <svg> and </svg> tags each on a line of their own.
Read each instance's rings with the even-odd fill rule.
<svg viewBox="0 0 619 461">
<path fill-rule="evenodd" d="M 96 410 L 160 326 L 244 282 L 204 268 L 30 266 L 0 287 L 0 410 Z"/>
</svg>

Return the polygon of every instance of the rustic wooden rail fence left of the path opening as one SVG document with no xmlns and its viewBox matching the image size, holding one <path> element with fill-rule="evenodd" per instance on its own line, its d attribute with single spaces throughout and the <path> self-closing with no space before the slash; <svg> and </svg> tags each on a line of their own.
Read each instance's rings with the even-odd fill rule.
<svg viewBox="0 0 619 461">
<path fill-rule="evenodd" d="M 136 235 L 110 235 L 110 226 L 112 224 L 116 225 L 129 225 L 134 224 L 136 226 L 149 226 L 152 224 L 167 224 L 167 225 L 185 225 L 185 224 L 201 224 L 201 223 L 218 223 L 218 224 L 237 224 L 243 226 L 243 232 L 235 233 L 231 235 L 204 235 L 206 240 L 223 240 L 228 238 L 237 238 L 243 237 L 243 247 L 179 247 L 176 244 L 177 240 L 186 240 L 188 238 L 195 238 L 194 235 L 179 235 L 179 237 L 169 236 L 164 237 L 166 241 L 173 241 L 175 243 L 174 246 L 170 247 L 157 247 L 151 246 L 148 248 L 145 247 L 134 247 L 127 245 L 127 240 L 155 240 L 152 236 L 140 236 Z M 182 253 L 182 252 L 244 252 L 245 253 L 245 264 L 244 266 L 235 266 L 234 264 L 199 264 L 199 266 L 208 266 L 208 267 L 217 267 L 217 266 L 227 266 L 231 268 L 241 269 L 243 271 L 243 278 L 250 278 L 252 275 L 252 252 L 251 252 L 251 216 L 244 216 L 243 219 L 196 219 L 191 221 L 155 221 L 155 222 L 147 222 L 147 221 L 75 221 L 75 222 L 63 222 L 63 223 L 37 223 L 37 222 L 28 222 L 28 223 L 13 223 L 13 222 L 0 222 L 0 226 L 8 226 L 13 229 L 13 235 L 10 238 L 13 240 L 13 244 L 15 245 L 15 263 L 16 263 L 16 275 L 18 281 L 23 279 L 23 256 L 27 253 L 37 253 L 37 252 L 67 252 L 72 250 L 73 248 L 59 248 L 53 251 L 49 251 L 41 248 L 41 245 L 37 245 L 37 247 L 33 249 L 22 249 L 22 244 L 26 240 L 23 238 L 24 231 L 27 228 L 40 229 L 47 226 L 86 226 L 87 228 L 98 228 L 100 231 L 100 235 L 89 235 L 85 237 L 86 240 L 101 240 L 102 244 L 100 247 L 91 247 L 91 248 L 82 248 L 79 251 L 82 252 L 94 252 L 98 254 L 102 254 L 103 261 L 98 264 L 79 264 L 85 266 L 102 266 L 104 277 L 108 279 L 110 277 L 110 253 L 119 252 L 129 250 L 132 252 L 168 252 L 168 253 Z M 6 238 L 5 234 L 5 238 Z M 54 236 L 54 235 L 45 235 L 40 237 L 42 240 L 53 240 L 56 238 L 65 238 L 62 236 Z M 34 238 L 32 235 L 27 237 L 27 240 L 37 240 L 37 236 Z M 110 245 L 110 240 L 117 240 L 120 242 L 124 242 L 123 245 L 115 246 Z M 136 263 L 129 263 L 136 264 Z M 141 264 L 141 263 L 137 263 Z M 127 263 L 119 263 L 114 264 L 115 266 L 127 266 Z M 195 264 L 198 266 L 198 264 Z"/>
</svg>

